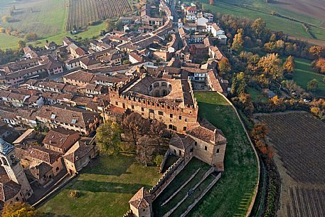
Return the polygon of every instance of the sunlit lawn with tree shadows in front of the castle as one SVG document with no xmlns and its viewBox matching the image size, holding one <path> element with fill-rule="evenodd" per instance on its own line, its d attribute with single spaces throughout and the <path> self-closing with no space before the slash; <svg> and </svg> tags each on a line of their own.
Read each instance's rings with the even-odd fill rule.
<svg viewBox="0 0 325 217">
<path fill-rule="evenodd" d="M 129 210 L 129 199 L 142 186 L 150 189 L 161 176 L 157 167 L 135 163 L 134 156 L 100 156 L 98 161 L 38 210 L 53 217 L 121 217 Z M 70 199 L 70 189 L 80 191 L 81 196 Z"/>
</svg>

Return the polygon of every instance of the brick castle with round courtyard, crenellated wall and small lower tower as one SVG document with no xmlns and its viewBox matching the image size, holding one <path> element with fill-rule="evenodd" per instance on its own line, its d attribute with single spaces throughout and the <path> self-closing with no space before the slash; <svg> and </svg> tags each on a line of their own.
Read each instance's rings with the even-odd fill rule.
<svg viewBox="0 0 325 217">
<path fill-rule="evenodd" d="M 215 75 L 215 72 L 204 70 L 202 73 L 206 73 L 207 79 L 200 82 L 213 85 L 209 76 Z M 154 199 L 193 157 L 211 165 L 211 172 L 224 170 L 227 139 L 207 120 L 198 120 L 198 103 L 191 81 L 196 79 L 191 79 L 190 75 L 191 72 L 185 68 L 137 68 L 137 73 L 131 78 L 110 87 L 110 107 L 164 122 L 174 132 L 166 155 L 179 157 L 179 161 L 165 172 L 153 189 L 142 188 L 132 197 L 129 201 L 131 211 L 127 216 L 153 216 L 151 204 Z M 211 86 L 208 88 L 213 90 Z M 215 180 L 219 178 L 220 175 Z"/>
</svg>

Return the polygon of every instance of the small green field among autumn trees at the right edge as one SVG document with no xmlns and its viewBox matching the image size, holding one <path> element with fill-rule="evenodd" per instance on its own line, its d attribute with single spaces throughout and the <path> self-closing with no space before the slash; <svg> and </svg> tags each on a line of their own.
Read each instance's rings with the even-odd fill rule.
<svg viewBox="0 0 325 217">
<path fill-rule="evenodd" d="M 307 83 L 309 80 L 316 79 L 319 81 L 319 91 L 315 94 L 325 96 L 325 84 L 323 83 L 323 78 L 325 75 L 315 73 L 311 68 L 310 60 L 294 58 L 294 61 L 296 62 L 296 70 L 294 71 L 293 80 L 297 83 L 297 85 L 307 90 Z"/>
</svg>

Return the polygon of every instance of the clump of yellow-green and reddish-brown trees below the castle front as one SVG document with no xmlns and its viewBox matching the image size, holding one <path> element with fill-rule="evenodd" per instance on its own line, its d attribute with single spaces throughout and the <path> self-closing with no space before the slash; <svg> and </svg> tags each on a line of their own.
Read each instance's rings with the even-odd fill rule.
<svg viewBox="0 0 325 217">
<path fill-rule="evenodd" d="M 163 123 L 131 113 L 121 122 L 109 120 L 101 125 L 97 129 L 97 144 L 105 154 L 135 152 L 137 161 L 147 165 L 154 162 L 155 157 L 161 159 L 159 150 L 165 135 L 166 125 Z"/>
</svg>

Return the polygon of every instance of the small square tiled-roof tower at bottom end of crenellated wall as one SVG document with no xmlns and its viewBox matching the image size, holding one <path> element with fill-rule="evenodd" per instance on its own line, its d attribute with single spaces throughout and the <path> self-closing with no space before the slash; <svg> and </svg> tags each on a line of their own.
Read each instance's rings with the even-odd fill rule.
<svg viewBox="0 0 325 217">
<path fill-rule="evenodd" d="M 137 194 L 134 194 L 131 200 L 129 200 L 129 206 L 132 213 L 136 217 L 151 217 L 152 216 L 152 199 L 148 190 L 140 189 Z"/>
</svg>

